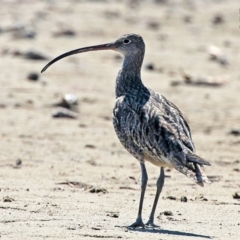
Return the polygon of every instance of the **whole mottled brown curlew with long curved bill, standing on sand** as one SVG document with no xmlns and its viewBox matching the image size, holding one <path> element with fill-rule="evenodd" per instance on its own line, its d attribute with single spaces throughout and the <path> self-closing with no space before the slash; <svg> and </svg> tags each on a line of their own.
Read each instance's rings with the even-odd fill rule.
<svg viewBox="0 0 240 240">
<path fill-rule="evenodd" d="M 140 35 L 125 34 L 110 43 L 66 52 L 50 61 L 41 72 L 67 56 L 97 50 L 113 50 L 123 55 L 122 68 L 115 84 L 113 126 L 121 144 L 139 161 L 142 175 L 137 218 L 128 227 L 159 227 L 154 223 L 154 215 L 164 185 L 164 169 L 176 169 L 196 184 L 204 186 L 204 183 L 211 181 L 204 173 L 203 165 L 211 164 L 195 153 L 191 130 L 182 112 L 166 97 L 143 84 L 141 68 L 145 43 Z M 152 210 L 144 224 L 142 208 L 148 182 L 146 162 L 157 166 L 160 173 Z"/>
</svg>

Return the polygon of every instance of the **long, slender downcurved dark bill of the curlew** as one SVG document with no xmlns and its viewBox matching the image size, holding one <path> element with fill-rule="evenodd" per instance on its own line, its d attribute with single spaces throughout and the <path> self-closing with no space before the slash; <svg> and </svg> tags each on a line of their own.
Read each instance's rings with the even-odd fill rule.
<svg viewBox="0 0 240 240">
<path fill-rule="evenodd" d="M 89 46 L 89 47 L 83 47 L 83 48 L 78 48 L 66 53 L 63 53 L 62 55 L 54 58 L 52 61 L 50 61 L 41 71 L 44 72 L 47 70 L 48 67 L 50 67 L 53 63 L 57 62 L 58 60 L 68 57 L 73 54 L 78 54 L 78 53 L 83 53 L 83 52 L 90 52 L 90 51 L 98 51 L 98 50 L 116 50 L 115 43 L 106 43 L 106 44 L 101 44 L 101 45 L 95 45 L 95 46 Z"/>
</svg>

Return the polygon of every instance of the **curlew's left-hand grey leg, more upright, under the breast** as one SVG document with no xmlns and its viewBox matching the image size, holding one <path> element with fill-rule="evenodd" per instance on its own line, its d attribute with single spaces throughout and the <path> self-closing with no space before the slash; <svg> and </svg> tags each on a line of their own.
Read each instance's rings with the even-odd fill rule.
<svg viewBox="0 0 240 240">
<path fill-rule="evenodd" d="M 136 228 L 136 227 L 144 228 L 144 223 L 142 221 L 142 206 L 143 206 L 145 190 L 147 187 L 148 175 L 147 175 L 147 170 L 144 162 L 141 162 L 140 165 L 142 170 L 142 184 L 141 184 L 141 197 L 140 197 L 140 203 L 139 203 L 139 209 L 138 209 L 138 216 L 137 216 L 136 222 L 134 222 L 132 225 L 129 226 L 130 228 Z"/>
</svg>

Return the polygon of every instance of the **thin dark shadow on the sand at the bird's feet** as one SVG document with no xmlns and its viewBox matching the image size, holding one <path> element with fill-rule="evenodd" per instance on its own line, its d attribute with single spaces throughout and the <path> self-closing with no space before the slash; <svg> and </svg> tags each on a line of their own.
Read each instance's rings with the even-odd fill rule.
<svg viewBox="0 0 240 240">
<path fill-rule="evenodd" d="M 207 238 L 207 239 L 213 238 L 207 235 L 201 235 L 201 234 L 190 233 L 190 232 L 172 231 L 172 230 L 166 230 L 161 228 L 130 228 L 128 226 L 116 226 L 116 227 L 126 228 L 129 231 L 133 231 L 133 232 L 158 233 L 158 234 L 168 234 L 168 235 L 175 235 L 175 236 L 197 237 L 197 238 Z"/>
</svg>

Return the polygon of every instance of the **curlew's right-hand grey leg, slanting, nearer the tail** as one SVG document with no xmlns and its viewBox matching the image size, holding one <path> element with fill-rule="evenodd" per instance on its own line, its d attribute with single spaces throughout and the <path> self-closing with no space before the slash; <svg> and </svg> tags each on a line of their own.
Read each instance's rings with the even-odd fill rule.
<svg viewBox="0 0 240 240">
<path fill-rule="evenodd" d="M 154 214 L 155 214 L 155 210 L 156 210 L 156 207 L 157 207 L 158 199 L 159 199 L 160 193 L 161 193 L 162 188 L 163 188 L 164 178 L 165 178 L 164 168 L 161 167 L 160 175 L 159 175 L 159 178 L 157 180 L 157 191 L 156 191 L 156 195 L 155 195 L 152 211 L 151 211 L 149 220 L 146 223 L 146 225 L 150 226 L 150 227 L 159 227 L 159 226 L 155 225 L 153 221 L 154 221 Z"/>
</svg>

